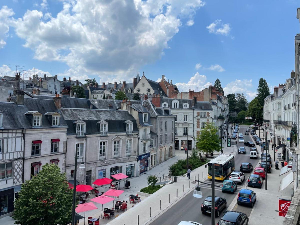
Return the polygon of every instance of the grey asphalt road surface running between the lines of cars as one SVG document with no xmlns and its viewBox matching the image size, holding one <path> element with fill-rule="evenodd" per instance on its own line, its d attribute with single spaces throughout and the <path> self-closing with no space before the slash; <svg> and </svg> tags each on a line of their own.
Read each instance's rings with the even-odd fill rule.
<svg viewBox="0 0 300 225">
<path fill-rule="evenodd" d="M 242 133 L 244 135 L 244 132 L 246 131 L 247 126 L 240 125 L 240 130 L 238 133 Z M 252 141 L 251 136 L 245 136 L 244 135 L 245 142 L 246 141 Z M 235 142 L 235 140 L 232 140 Z M 224 142 L 223 142 L 224 143 Z M 238 146 L 244 146 L 243 143 L 238 143 Z M 249 147 L 245 146 L 246 149 Z M 234 152 L 234 151 L 233 151 Z M 236 151 L 237 152 L 237 151 Z M 249 156 L 250 151 L 246 151 L 246 155 L 239 155 L 236 153 L 235 155 L 235 171 L 240 171 L 240 165 L 242 162 L 250 162 L 253 167 L 256 166 L 259 159 L 250 159 Z M 244 173 L 244 172 L 243 172 Z M 244 185 L 247 181 L 247 176 L 250 175 L 250 173 L 244 173 L 245 174 L 245 181 L 243 184 L 238 185 L 237 190 L 234 194 L 231 193 L 222 193 L 221 187 L 215 187 L 215 196 L 223 197 L 227 201 L 227 208 L 232 202 L 232 200 L 235 198 L 236 193 L 241 189 L 245 188 Z M 193 174 L 191 174 L 193 175 Z M 207 179 L 205 182 L 211 183 L 211 180 Z M 216 185 L 222 186 L 222 182 L 215 182 Z M 201 213 L 201 204 L 206 196 L 211 195 L 211 187 L 209 185 L 201 184 L 202 188 L 202 195 L 203 198 L 194 198 L 193 197 L 193 191 L 190 192 L 187 196 L 185 196 L 183 199 L 181 199 L 179 202 L 177 202 L 175 205 L 173 205 L 171 208 L 169 208 L 164 214 L 162 214 L 160 217 L 158 217 L 155 221 L 153 221 L 151 224 L 160 224 L 160 225 L 170 225 L 170 224 L 178 224 L 181 221 L 195 221 L 198 223 L 201 223 L 203 225 L 210 224 L 211 223 L 211 216 L 202 214 Z M 227 209 L 226 208 L 226 209 Z M 238 206 L 239 210 L 236 211 L 242 211 L 246 213 L 248 216 L 251 213 L 252 208 L 247 206 Z M 240 209 L 241 208 L 241 209 Z M 220 217 L 223 213 L 220 213 Z M 215 224 L 219 221 L 219 218 L 215 218 Z"/>
</svg>

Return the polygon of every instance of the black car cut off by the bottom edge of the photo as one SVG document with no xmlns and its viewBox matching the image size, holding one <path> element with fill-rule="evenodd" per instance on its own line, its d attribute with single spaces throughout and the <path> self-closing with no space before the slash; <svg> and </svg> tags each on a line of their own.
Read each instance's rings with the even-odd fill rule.
<svg viewBox="0 0 300 225">
<path fill-rule="evenodd" d="M 248 221 L 248 216 L 242 212 L 226 211 L 217 225 L 248 225 Z"/>
</svg>

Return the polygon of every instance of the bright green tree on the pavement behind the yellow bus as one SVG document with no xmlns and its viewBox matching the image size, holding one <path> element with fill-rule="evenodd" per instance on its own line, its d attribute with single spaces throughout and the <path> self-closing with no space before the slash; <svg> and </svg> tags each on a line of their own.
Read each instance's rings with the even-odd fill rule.
<svg viewBox="0 0 300 225">
<path fill-rule="evenodd" d="M 201 134 L 197 137 L 197 149 L 207 154 L 211 154 L 214 151 L 219 152 L 221 150 L 221 140 L 217 133 L 218 129 L 212 123 L 206 124 Z"/>
</svg>

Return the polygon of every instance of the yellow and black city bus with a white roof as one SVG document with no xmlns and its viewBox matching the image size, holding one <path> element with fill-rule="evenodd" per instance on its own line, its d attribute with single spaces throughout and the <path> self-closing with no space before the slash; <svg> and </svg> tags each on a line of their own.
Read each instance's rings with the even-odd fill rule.
<svg viewBox="0 0 300 225">
<path fill-rule="evenodd" d="M 208 179 L 211 179 L 211 164 L 214 163 L 214 179 L 223 181 L 234 171 L 234 155 L 223 154 L 208 163 Z"/>
</svg>

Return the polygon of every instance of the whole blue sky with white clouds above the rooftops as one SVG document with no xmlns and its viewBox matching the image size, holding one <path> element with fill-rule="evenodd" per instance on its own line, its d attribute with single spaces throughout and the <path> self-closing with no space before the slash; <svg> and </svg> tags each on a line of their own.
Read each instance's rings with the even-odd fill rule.
<svg viewBox="0 0 300 225">
<path fill-rule="evenodd" d="M 300 33 L 296 1 L 2 0 L 0 72 L 131 81 L 136 71 L 164 74 L 179 91 L 219 78 L 224 91 L 253 99 L 294 70 Z M 196 66 L 197 65 L 197 66 Z"/>
</svg>

